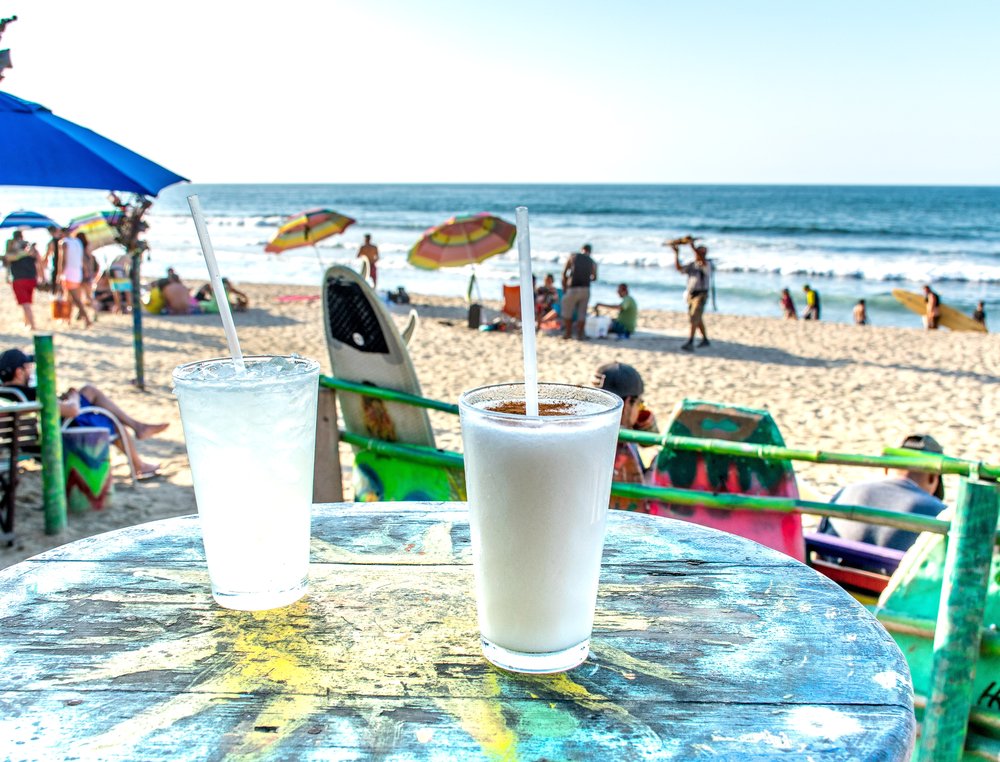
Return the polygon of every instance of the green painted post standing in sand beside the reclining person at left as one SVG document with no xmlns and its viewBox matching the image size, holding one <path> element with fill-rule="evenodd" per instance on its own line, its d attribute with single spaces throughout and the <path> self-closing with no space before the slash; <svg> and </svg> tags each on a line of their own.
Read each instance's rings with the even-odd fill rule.
<svg viewBox="0 0 1000 762">
<path fill-rule="evenodd" d="M 42 405 L 42 494 L 45 534 L 58 534 L 66 526 L 66 477 L 62 462 L 62 419 L 56 393 L 56 353 L 52 334 L 35 336 L 35 372 L 38 401 Z"/>
</svg>

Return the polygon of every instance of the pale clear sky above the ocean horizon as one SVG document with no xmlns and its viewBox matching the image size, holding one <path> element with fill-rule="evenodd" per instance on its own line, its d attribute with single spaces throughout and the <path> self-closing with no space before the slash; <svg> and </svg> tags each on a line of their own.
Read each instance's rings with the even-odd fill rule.
<svg viewBox="0 0 1000 762">
<path fill-rule="evenodd" d="M 11 14 L 0 89 L 195 182 L 1000 184 L 994 0 Z"/>
</svg>

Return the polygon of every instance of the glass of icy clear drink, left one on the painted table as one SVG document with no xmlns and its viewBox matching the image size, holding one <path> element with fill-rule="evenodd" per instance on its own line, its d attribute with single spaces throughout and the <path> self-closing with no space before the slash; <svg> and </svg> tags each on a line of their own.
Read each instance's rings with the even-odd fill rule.
<svg viewBox="0 0 1000 762">
<path fill-rule="evenodd" d="M 181 409 L 212 595 L 244 611 L 306 591 L 319 363 L 247 357 L 181 365 Z"/>
</svg>

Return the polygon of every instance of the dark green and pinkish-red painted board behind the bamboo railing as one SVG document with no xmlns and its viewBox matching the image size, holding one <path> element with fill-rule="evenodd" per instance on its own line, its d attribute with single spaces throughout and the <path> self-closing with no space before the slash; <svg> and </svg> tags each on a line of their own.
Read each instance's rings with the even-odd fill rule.
<svg viewBox="0 0 1000 762">
<path fill-rule="evenodd" d="M 729 442 L 784 446 L 777 424 L 767 410 L 681 400 L 670 415 L 666 432 L 672 436 L 723 439 Z M 658 487 L 680 487 L 714 493 L 798 498 L 791 461 L 765 461 L 664 447 L 648 474 Z M 691 521 L 721 529 L 805 560 L 802 519 L 777 511 L 723 510 L 704 505 L 674 505 L 649 501 L 656 516 Z"/>
</svg>

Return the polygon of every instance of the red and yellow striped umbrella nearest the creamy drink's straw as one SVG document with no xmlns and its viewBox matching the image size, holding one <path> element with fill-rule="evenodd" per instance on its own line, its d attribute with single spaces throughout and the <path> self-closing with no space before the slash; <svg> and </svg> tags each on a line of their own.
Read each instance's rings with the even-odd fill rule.
<svg viewBox="0 0 1000 762">
<path fill-rule="evenodd" d="M 424 270 L 475 265 L 507 251 L 516 236 L 514 225 L 492 214 L 456 216 L 427 230 L 407 261 Z"/>
</svg>

